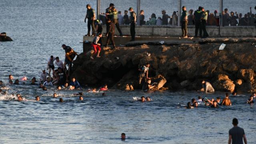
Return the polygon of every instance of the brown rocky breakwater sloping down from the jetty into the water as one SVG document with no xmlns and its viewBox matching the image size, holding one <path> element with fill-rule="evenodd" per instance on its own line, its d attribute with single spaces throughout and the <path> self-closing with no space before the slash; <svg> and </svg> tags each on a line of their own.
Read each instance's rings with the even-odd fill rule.
<svg viewBox="0 0 256 144">
<path fill-rule="evenodd" d="M 256 92 L 255 41 L 133 42 L 116 50 L 104 48 L 102 57 L 94 60 L 80 54 L 74 61 L 72 76 L 91 86 L 106 83 L 114 89 L 140 89 L 138 68 L 148 62 L 149 77 L 158 83 L 155 90 L 199 90 L 201 81 L 206 80 L 215 90 Z M 219 50 L 222 42 L 226 47 Z"/>
</svg>

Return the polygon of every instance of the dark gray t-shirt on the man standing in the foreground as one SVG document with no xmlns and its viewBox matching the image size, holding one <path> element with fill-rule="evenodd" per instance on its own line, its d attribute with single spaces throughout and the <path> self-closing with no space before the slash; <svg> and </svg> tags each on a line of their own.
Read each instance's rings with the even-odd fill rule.
<svg viewBox="0 0 256 144">
<path fill-rule="evenodd" d="M 244 129 L 234 126 L 228 134 L 232 136 L 232 144 L 243 144 Z"/>
</svg>

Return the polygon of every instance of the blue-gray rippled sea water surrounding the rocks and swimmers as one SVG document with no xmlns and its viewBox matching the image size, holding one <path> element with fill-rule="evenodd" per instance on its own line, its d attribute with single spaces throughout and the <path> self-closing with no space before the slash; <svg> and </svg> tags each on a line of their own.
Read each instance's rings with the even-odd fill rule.
<svg viewBox="0 0 256 144">
<path fill-rule="evenodd" d="M 62 44 L 82 52 L 85 0 L 0 0 L 0 32 L 13 42 L 0 42 L 0 80 L 9 74 L 19 79 L 39 79 L 50 55 L 64 60 Z M 96 2 L 92 2 L 95 6 Z M 3 10 L 4 9 L 4 10 Z M 26 82 L 8 86 L 8 93 L 20 93 L 28 101 L 18 102 L 0 96 L 0 144 L 14 143 L 226 143 L 232 118 L 238 118 L 248 143 L 256 142 L 255 105 L 245 104 L 248 94 L 231 97 L 233 105 L 219 109 L 199 106 L 187 110 L 180 104 L 198 96 L 216 98 L 223 93 L 123 92 L 86 90 L 43 92 Z M 56 92 L 64 99 L 52 98 Z M 84 92 L 84 101 L 74 93 Z M 34 102 L 40 96 L 41 102 Z M 150 96 L 152 102 L 134 102 L 132 96 Z M 8 97 L 11 98 L 10 95 Z M 120 140 L 120 134 L 128 136 Z"/>
</svg>

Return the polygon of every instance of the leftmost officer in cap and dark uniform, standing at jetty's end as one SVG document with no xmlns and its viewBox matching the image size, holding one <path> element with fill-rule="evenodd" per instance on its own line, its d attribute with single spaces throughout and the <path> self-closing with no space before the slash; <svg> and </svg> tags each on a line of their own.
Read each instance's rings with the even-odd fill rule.
<svg viewBox="0 0 256 144">
<path fill-rule="evenodd" d="M 87 11 L 86 11 L 86 16 L 84 19 L 84 22 L 86 22 L 86 18 L 88 19 L 87 22 L 87 28 L 88 28 L 88 33 L 86 34 L 86 36 L 90 36 L 91 34 L 91 26 L 92 26 L 92 35 L 95 34 L 95 27 L 94 27 L 94 20 L 95 20 L 95 11 L 94 9 L 92 9 L 92 7 L 90 6 L 90 4 L 86 5 Z"/>
</svg>

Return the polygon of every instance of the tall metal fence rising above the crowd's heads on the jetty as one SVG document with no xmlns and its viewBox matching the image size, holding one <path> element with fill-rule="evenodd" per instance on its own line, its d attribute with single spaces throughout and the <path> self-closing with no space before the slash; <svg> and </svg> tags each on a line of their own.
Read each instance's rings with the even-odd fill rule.
<svg viewBox="0 0 256 144">
<path fill-rule="evenodd" d="M 122 15 L 124 15 L 124 10 L 133 7 L 137 14 L 137 25 L 140 24 L 140 10 L 144 10 L 145 21 L 150 19 L 152 13 L 156 15 L 156 19 L 158 19 L 158 17 L 162 18 L 162 10 L 165 10 L 166 14 L 170 16 L 168 19 L 168 21 L 170 21 L 173 13 L 176 12 L 178 26 L 180 25 L 179 18 L 182 12 L 182 6 L 186 6 L 187 11 L 195 11 L 198 9 L 198 6 L 203 6 L 204 9 L 209 10 L 210 13 L 214 13 L 215 10 L 218 11 L 217 15 L 220 14 L 220 16 L 225 8 L 228 8 L 229 14 L 233 11 L 234 13 L 241 13 L 243 17 L 244 14 L 250 12 L 250 7 L 252 7 L 252 13 L 256 13 L 256 10 L 254 9 L 256 0 L 97 0 L 97 18 L 104 17 L 104 15 L 101 15 L 100 13 L 104 13 L 110 3 L 113 3 L 116 9 L 122 12 Z M 130 15 L 129 12 L 128 15 Z M 250 15 L 248 18 L 255 20 L 256 16 L 252 18 L 252 15 Z M 239 21 L 240 19 L 241 18 L 237 18 L 236 20 Z M 169 23 L 169 25 L 172 24 Z"/>
</svg>

